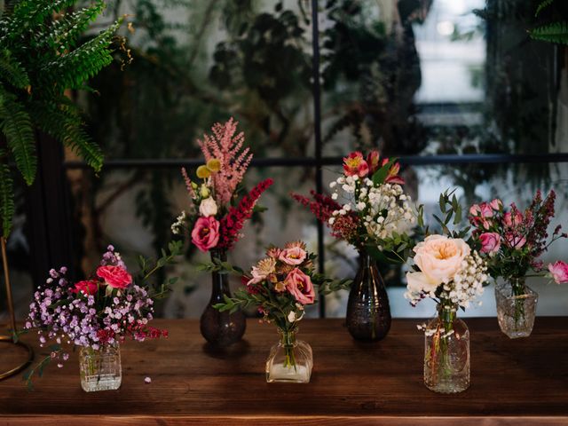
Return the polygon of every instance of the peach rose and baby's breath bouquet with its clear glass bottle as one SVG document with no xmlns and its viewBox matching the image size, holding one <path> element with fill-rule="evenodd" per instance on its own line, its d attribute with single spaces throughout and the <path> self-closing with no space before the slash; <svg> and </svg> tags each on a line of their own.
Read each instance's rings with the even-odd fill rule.
<svg viewBox="0 0 568 426">
<path fill-rule="evenodd" d="M 449 209 L 447 206 L 451 205 Z M 449 221 L 460 222 L 457 200 L 449 203 L 446 193 L 440 206 L 445 220 L 438 219 L 447 235 L 433 234 L 414 249 L 413 270 L 406 273 L 405 297 L 415 305 L 430 297 L 438 304 L 438 316 L 424 331 L 424 383 L 430 390 L 454 393 L 469 387 L 469 329 L 458 319 L 458 308 L 465 310 L 483 293 L 487 266 L 471 242 L 464 241 L 469 229 L 450 232 Z M 422 223 L 422 216 L 419 218 Z"/>
</svg>

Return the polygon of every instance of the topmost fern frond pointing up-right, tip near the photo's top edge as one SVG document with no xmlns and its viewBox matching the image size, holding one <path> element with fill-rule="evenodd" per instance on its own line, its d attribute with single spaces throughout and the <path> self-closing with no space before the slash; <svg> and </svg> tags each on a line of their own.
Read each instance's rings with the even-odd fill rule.
<svg viewBox="0 0 568 426">
<path fill-rule="evenodd" d="M 92 21 L 96 20 L 106 8 L 104 0 L 98 0 L 95 4 L 83 9 L 71 12 L 53 22 L 48 34 L 38 32 L 34 37 L 34 45 L 38 48 L 50 47 L 56 51 L 66 51 L 75 46 L 77 39 L 83 31 L 89 28 Z"/>
</svg>

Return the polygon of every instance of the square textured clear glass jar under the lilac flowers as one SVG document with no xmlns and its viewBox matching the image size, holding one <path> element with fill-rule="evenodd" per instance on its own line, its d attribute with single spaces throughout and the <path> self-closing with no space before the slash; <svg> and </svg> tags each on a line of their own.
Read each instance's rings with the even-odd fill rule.
<svg viewBox="0 0 568 426">
<path fill-rule="evenodd" d="M 118 343 L 99 350 L 82 347 L 79 351 L 81 387 L 85 392 L 115 390 L 121 387 L 121 349 Z"/>
</svg>

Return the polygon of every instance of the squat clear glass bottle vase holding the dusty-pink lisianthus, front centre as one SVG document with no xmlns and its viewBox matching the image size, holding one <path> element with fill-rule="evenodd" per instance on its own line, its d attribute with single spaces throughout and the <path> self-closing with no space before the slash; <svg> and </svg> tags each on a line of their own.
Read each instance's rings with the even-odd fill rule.
<svg viewBox="0 0 568 426">
<path fill-rule="evenodd" d="M 266 382 L 310 383 L 312 375 L 312 347 L 296 340 L 297 328 L 279 328 L 280 341 L 272 346 L 266 360 Z"/>
</svg>

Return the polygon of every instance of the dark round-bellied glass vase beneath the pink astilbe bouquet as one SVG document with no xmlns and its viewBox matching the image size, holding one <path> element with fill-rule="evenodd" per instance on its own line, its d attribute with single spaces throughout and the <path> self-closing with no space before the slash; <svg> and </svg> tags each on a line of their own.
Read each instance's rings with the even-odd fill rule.
<svg viewBox="0 0 568 426">
<path fill-rule="evenodd" d="M 214 257 L 225 262 L 227 260 L 226 251 L 211 251 L 211 259 Z M 213 307 L 214 304 L 224 302 L 224 295 L 231 296 L 229 275 L 213 272 L 212 285 L 209 304 L 207 304 L 205 311 L 201 314 L 201 335 L 212 345 L 225 347 L 241 340 L 242 335 L 245 334 L 247 321 L 245 314 L 241 311 L 233 313 L 219 312 Z"/>
</svg>

